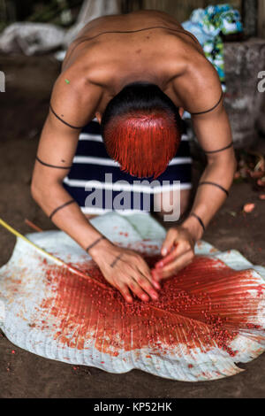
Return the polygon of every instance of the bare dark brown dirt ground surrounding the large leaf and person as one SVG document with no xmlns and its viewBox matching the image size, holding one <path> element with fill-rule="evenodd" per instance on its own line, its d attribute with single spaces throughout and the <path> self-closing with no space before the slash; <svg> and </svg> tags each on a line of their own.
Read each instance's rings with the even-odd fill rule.
<svg viewBox="0 0 265 416">
<path fill-rule="evenodd" d="M 0 216 L 23 234 L 30 231 L 26 218 L 44 230 L 54 228 L 31 198 L 30 181 L 59 68 L 49 56 L 0 56 L 0 70 L 6 74 L 6 92 L 0 94 Z M 265 150 L 264 138 L 259 146 Z M 256 207 L 243 215 L 246 202 L 254 202 Z M 253 263 L 265 266 L 264 207 L 265 201 L 258 199 L 249 183 L 234 184 L 204 239 L 220 250 L 237 249 Z M 14 237 L 1 229 L 0 266 L 10 258 L 14 243 Z M 94 367 L 52 361 L 19 349 L 1 334 L 0 351 L 0 397 L 265 397 L 265 354 L 240 365 L 246 371 L 231 378 L 185 383 L 138 370 L 108 374 Z"/>
</svg>

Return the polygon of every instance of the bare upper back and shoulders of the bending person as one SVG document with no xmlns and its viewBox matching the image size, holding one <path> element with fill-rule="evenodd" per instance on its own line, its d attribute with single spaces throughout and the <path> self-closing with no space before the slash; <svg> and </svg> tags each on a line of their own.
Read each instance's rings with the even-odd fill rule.
<svg viewBox="0 0 265 416">
<path fill-rule="evenodd" d="M 220 89 L 215 70 L 196 38 L 177 20 L 156 11 L 89 22 L 67 51 L 63 73 L 69 72 L 101 87 L 96 109 L 101 113 L 110 99 L 132 81 L 155 83 L 178 107 L 191 111 L 203 109 L 203 105 L 193 104 L 200 72 L 201 79 L 208 73 L 209 88 L 215 84 Z M 191 90 L 193 78 L 195 88 Z M 212 102 L 209 100 L 209 105 Z"/>
</svg>

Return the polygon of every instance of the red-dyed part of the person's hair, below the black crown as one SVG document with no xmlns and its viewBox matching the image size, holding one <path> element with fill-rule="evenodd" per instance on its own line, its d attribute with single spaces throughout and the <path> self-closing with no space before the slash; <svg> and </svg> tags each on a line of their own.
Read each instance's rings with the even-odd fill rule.
<svg viewBox="0 0 265 416">
<path fill-rule="evenodd" d="M 110 119 L 104 143 L 121 170 L 139 178 L 164 172 L 174 158 L 181 132 L 174 113 L 163 109 L 135 110 Z"/>
</svg>

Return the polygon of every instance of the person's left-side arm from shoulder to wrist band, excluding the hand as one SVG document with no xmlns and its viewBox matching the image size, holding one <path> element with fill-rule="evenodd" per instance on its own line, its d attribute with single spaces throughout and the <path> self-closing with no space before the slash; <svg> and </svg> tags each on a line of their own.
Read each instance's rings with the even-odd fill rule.
<svg viewBox="0 0 265 416">
<path fill-rule="evenodd" d="M 65 79 L 70 83 L 67 84 Z M 58 78 L 51 96 L 50 104 L 54 112 L 73 127 L 85 125 L 92 119 L 97 104 L 99 92 L 94 86 L 87 86 L 85 80 L 83 83 L 82 86 L 82 81 L 76 82 L 71 73 L 64 73 Z M 86 94 L 84 88 L 87 89 Z M 49 110 L 42 129 L 32 181 L 32 195 L 48 216 L 72 199 L 62 182 L 70 170 L 67 167 L 72 166 L 79 139 L 80 129 L 73 127 L 64 124 Z M 68 204 L 58 209 L 52 220 L 83 249 L 100 236 L 88 223 L 78 204 Z"/>
</svg>

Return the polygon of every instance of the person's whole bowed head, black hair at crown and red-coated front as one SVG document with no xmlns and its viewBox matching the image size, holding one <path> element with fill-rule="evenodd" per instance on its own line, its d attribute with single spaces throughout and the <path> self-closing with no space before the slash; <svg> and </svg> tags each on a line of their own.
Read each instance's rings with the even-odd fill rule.
<svg viewBox="0 0 265 416">
<path fill-rule="evenodd" d="M 178 150 L 178 108 L 155 84 L 129 84 L 102 114 L 106 150 L 121 169 L 139 178 L 159 176 Z"/>
</svg>

